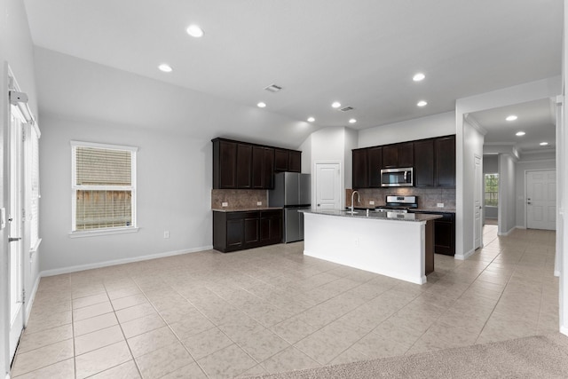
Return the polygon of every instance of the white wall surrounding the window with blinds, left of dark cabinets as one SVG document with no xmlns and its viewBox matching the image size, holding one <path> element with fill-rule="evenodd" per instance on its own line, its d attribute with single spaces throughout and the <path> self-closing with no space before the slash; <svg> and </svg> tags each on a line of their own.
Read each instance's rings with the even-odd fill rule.
<svg viewBox="0 0 568 379">
<path fill-rule="evenodd" d="M 138 233 L 70 238 L 71 140 L 138 146 Z M 46 115 L 40 148 L 46 274 L 210 249 L 209 138 Z M 163 232 L 170 232 L 170 239 Z"/>
</svg>

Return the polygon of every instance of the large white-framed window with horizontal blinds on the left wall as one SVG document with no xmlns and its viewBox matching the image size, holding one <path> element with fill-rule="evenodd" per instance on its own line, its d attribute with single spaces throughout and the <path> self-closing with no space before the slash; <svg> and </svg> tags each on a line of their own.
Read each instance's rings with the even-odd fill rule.
<svg viewBox="0 0 568 379">
<path fill-rule="evenodd" d="M 136 231 L 136 147 L 71 142 L 73 233 Z"/>
</svg>

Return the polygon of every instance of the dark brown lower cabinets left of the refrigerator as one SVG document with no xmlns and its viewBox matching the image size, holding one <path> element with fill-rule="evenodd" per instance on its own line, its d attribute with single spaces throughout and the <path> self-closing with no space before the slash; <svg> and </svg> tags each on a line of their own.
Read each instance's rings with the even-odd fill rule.
<svg viewBox="0 0 568 379">
<path fill-rule="evenodd" d="M 282 240 L 282 211 L 213 211 L 213 249 L 230 251 L 258 248 Z"/>
</svg>

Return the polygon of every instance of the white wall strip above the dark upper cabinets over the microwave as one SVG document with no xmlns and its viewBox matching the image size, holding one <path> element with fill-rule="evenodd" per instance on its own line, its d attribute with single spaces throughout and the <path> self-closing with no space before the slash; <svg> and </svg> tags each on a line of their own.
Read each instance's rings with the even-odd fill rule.
<svg viewBox="0 0 568 379">
<path fill-rule="evenodd" d="M 379 146 L 455 134 L 455 113 L 434 114 L 359 130 L 359 146 Z"/>
</svg>

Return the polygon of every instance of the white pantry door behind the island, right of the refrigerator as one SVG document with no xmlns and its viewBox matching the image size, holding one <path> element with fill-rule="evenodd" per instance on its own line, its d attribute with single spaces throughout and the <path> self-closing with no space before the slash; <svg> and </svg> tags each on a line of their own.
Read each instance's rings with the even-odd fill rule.
<svg viewBox="0 0 568 379">
<path fill-rule="evenodd" d="M 316 209 L 341 208 L 339 163 L 316 163 Z"/>
</svg>

